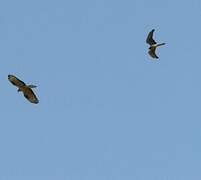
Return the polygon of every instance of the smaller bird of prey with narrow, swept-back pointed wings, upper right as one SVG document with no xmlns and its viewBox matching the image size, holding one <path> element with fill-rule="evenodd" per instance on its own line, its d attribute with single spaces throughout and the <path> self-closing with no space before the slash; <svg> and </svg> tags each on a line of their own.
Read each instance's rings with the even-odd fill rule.
<svg viewBox="0 0 201 180">
<path fill-rule="evenodd" d="M 165 43 L 160 43 L 160 44 L 157 44 L 156 41 L 153 39 L 153 33 L 154 33 L 154 29 L 152 29 L 148 36 L 147 36 L 147 39 L 146 39 L 146 42 L 150 45 L 149 47 L 149 55 L 152 57 L 152 58 L 156 58 L 158 59 L 158 56 L 156 55 L 155 51 L 156 51 L 156 48 L 159 47 L 159 46 L 162 46 L 162 45 L 165 45 Z"/>
</svg>

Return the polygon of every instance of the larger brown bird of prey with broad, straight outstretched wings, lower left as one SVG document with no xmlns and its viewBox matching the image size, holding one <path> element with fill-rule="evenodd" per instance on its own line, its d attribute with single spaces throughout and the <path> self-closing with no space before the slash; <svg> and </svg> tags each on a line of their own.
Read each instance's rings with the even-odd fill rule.
<svg viewBox="0 0 201 180">
<path fill-rule="evenodd" d="M 37 104 L 39 100 L 36 95 L 32 91 L 31 88 L 36 88 L 35 85 L 26 85 L 23 81 L 15 77 L 14 75 L 8 75 L 8 80 L 14 85 L 18 87 L 18 92 L 22 91 L 24 97 L 27 98 L 31 103 Z"/>
</svg>

